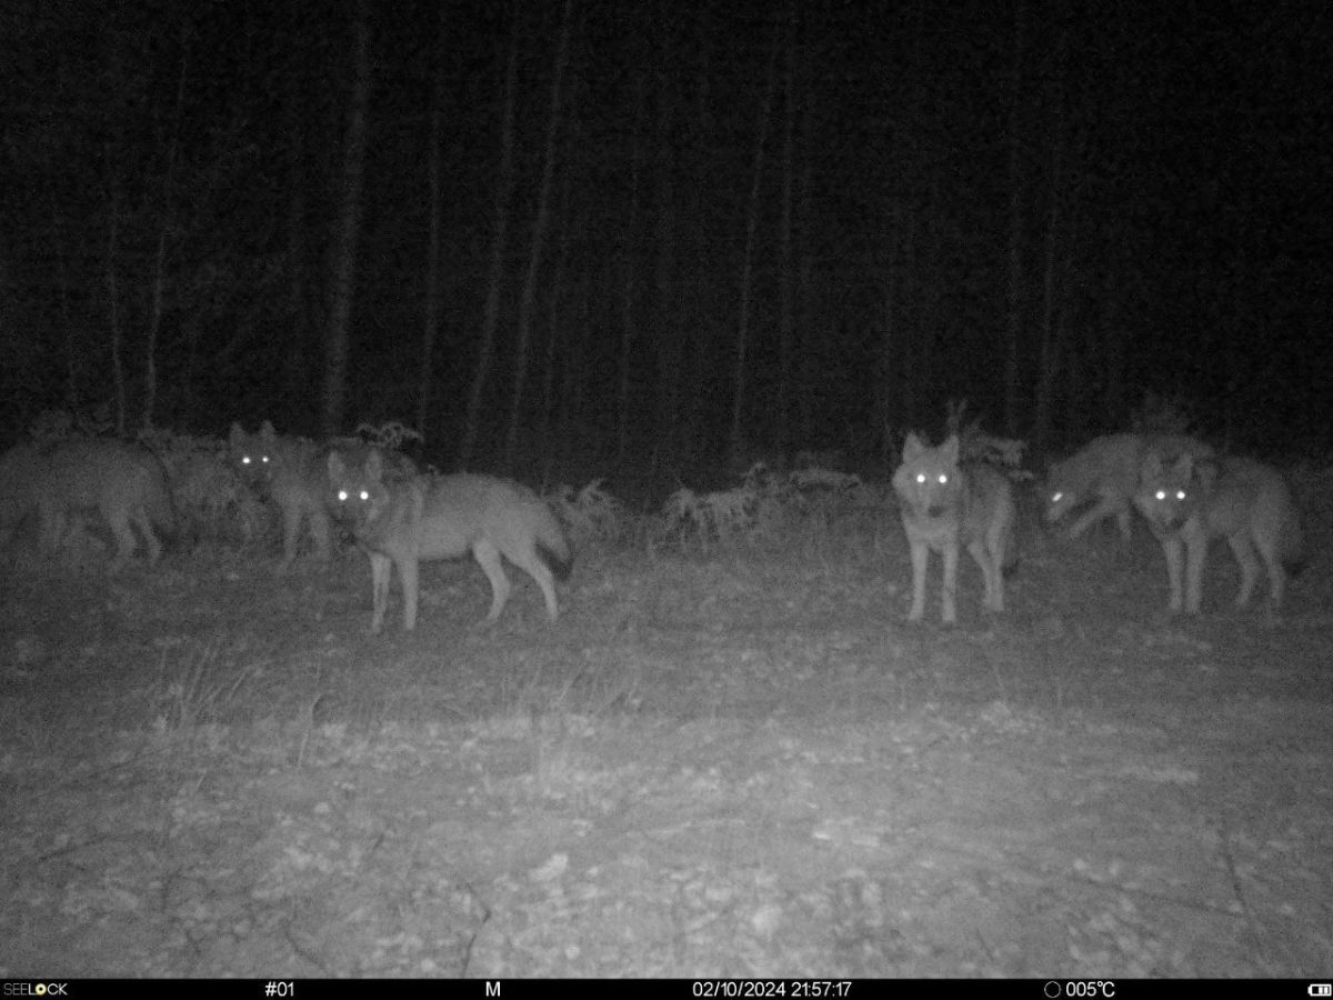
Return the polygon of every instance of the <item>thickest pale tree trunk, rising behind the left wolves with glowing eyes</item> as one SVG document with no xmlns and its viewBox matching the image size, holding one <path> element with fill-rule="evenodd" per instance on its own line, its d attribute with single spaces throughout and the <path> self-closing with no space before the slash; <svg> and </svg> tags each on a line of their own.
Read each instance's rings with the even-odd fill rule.
<svg viewBox="0 0 1333 1000">
<path fill-rule="evenodd" d="M 360 0 L 352 15 L 352 93 L 347 111 L 347 145 L 343 151 L 343 188 L 333 255 L 332 308 L 324 335 L 325 437 L 343 431 L 347 411 L 347 359 L 356 293 L 356 248 L 361 227 L 361 187 L 365 172 L 365 133 L 371 101 L 371 39 L 367 4 Z"/>
</svg>

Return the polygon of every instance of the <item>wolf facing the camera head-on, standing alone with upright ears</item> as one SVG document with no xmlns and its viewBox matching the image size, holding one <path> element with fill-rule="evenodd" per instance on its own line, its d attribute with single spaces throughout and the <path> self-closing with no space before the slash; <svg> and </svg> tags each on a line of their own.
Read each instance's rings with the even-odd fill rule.
<svg viewBox="0 0 1333 1000">
<path fill-rule="evenodd" d="M 909 621 L 925 615 L 925 573 L 932 549 L 944 556 L 945 624 L 957 620 L 954 595 L 958 547 L 965 545 L 985 580 L 984 604 L 1004 611 L 1004 573 L 1016 561 L 1017 508 L 1013 484 L 985 463 L 958 463 L 958 437 L 938 448 L 909 433 L 902 464 L 893 473 L 902 531 L 912 551 L 912 611 Z"/>
</svg>

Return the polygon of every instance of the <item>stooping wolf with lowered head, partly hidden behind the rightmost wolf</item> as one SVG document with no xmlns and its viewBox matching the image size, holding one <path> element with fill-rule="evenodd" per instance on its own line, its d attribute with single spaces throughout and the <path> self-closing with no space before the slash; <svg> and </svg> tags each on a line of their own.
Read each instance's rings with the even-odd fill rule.
<svg viewBox="0 0 1333 1000">
<path fill-rule="evenodd" d="M 1044 497 L 1046 523 L 1054 524 L 1076 507 L 1090 504 L 1073 523 L 1069 536 L 1076 539 L 1097 521 L 1114 517 L 1121 537 L 1129 544 L 1134 491 L 1149 449 L 1164 456 L 1213 456 L 1210 447 L 1188 435 L 1120 433 L 1094 437 L 1074 455 L 1050 467 Z"/>
</svg>

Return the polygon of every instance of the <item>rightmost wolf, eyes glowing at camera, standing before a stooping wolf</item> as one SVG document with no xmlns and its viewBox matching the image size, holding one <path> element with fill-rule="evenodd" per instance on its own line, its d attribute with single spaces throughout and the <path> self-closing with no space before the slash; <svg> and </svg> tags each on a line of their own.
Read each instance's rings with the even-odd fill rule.
<svg viewBox="0 0 1333 1000">
<path fill-rule="evenodd" d="M 1134 505 L 1166 556 L 1172 612 L 1184 607 L 1188 615 L 1198 613 L 1208 544 L 1218 536 L 1226 539 L 1241 568 L 1236 607 L 1249 604 L 1262 559 L 1273 609 L 1281 608 L 1288 572 L 1296 573 L 1301 565 L 1301 524 L 1286 480 L 1272 465 L 1240 457 L 1198 460 L 1188 452 L 1168 459 L 1149 449 Z"/>
</svg>

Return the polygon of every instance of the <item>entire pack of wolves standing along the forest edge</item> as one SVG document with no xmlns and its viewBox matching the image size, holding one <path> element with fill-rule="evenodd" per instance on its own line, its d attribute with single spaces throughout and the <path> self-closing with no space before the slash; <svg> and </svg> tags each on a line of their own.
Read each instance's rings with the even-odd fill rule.
<svg viewBox="0 0 1333 1000">
<path fill-rule="evenodd" d="M 403 628 L 416 627 L 420 564 L 471 555 L 491 584 L 485 624 L 503 613 L 512 584 L 505 564 L 537 585 L 551 621 L 560 616 L 556 581 L 569 576 L 573 549 L 551 507 L 529 488 L 479 473 L 423 473 L 404 455 L 355 440 L 316 443 L 233 424 L 228 460 L 239 479 L 277 507 L 287 572 L 308 535 L 313 557 L 329 561 L 335 524 L 345 525 L 371 565 L 371 631 L 384 628 L 393 569 L 403 592 Z M 169 477 L 148 448 L 115 440 L 20 444 L 0 455 L 0 543 L 36 523 L 43 547 L 60 548 L 97 515 L 111 531 L 111 571 L 139 543 L 156 563 L 157 532 L 176 529 Z M 958 556 L 981 571 L 981 604 L 1005 609 L 1005 577 L 1017 561 L 1018 484 L 1013 469 L 969 455 L 957 435 L 929 445 L 909 433 L 892 477 L 912 565 L 910 621 L 926 615 L 930 553 L 942 561 L 940 617 L 957 621 Z M 1073 537 L 1114 520 L 1128 543 L 1137 512 L 1161 545 L 1168 608 L 1198 615 L 1213 541 L 1225 539 L 1240 567 L 1236 605 L 1250 601 L 1261 571 L 1281 608 L 1300 565 L 1301 528 L 1282 473 L 1252 459 L 1220 455 L 1204 441 L 1170 433 L 1096 437 L 1050 464 L 1042 519 Z"/>
</svg>

